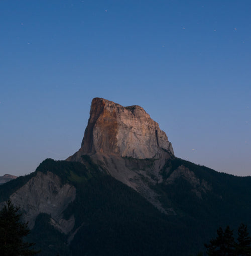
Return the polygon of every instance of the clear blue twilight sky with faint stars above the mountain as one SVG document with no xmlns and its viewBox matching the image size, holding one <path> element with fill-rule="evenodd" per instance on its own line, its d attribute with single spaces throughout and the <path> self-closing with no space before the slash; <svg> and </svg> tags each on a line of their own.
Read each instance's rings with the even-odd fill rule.
<svg viewBox="0 0 251 256">
<path fill-rule="evenodd" d="M 0 176 L 80 147 L 91 100 L 140 105 L 177 157 L 251 175 L 250 0 L 1 0 Z"/>
</svg>

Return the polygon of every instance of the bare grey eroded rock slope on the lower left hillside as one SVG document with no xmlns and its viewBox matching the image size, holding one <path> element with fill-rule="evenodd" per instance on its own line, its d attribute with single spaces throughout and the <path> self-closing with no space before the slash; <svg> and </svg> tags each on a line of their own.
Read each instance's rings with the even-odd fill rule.
<svg viewBox="0 0 251 256">
<path fill-rule="evenodd" d="M 38 172 L 23 187 L 11 195 L 14 205 L 21 205 L 25 221 L 33 228 L 37 216 L 42 213 L 51 215 L 51 224 L 63 233 L 68 233 L 74 226 L 74 216 L 65 220 L 63 211 L 76 197 L 75 187 L 62 184 L 60 178 L 48 172 Z"/>
</svg>

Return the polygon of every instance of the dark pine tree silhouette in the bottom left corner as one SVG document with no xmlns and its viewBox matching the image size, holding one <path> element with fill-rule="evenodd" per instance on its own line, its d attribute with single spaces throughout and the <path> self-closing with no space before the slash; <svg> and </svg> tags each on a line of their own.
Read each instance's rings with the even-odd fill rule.
<svg viewBox="0 0 251 256">
<path fill-rule="evenodd" d="M 21 221 L 22 214 L 18 213 L 20 207 L 15 207 L 11 200 L 0 211 L 0 255 L 25 256 L 35 255 L 30 247 L 34 243 L 24 242 L 23 238 L 30 233 L 28 222 Z"/>
</svg>

